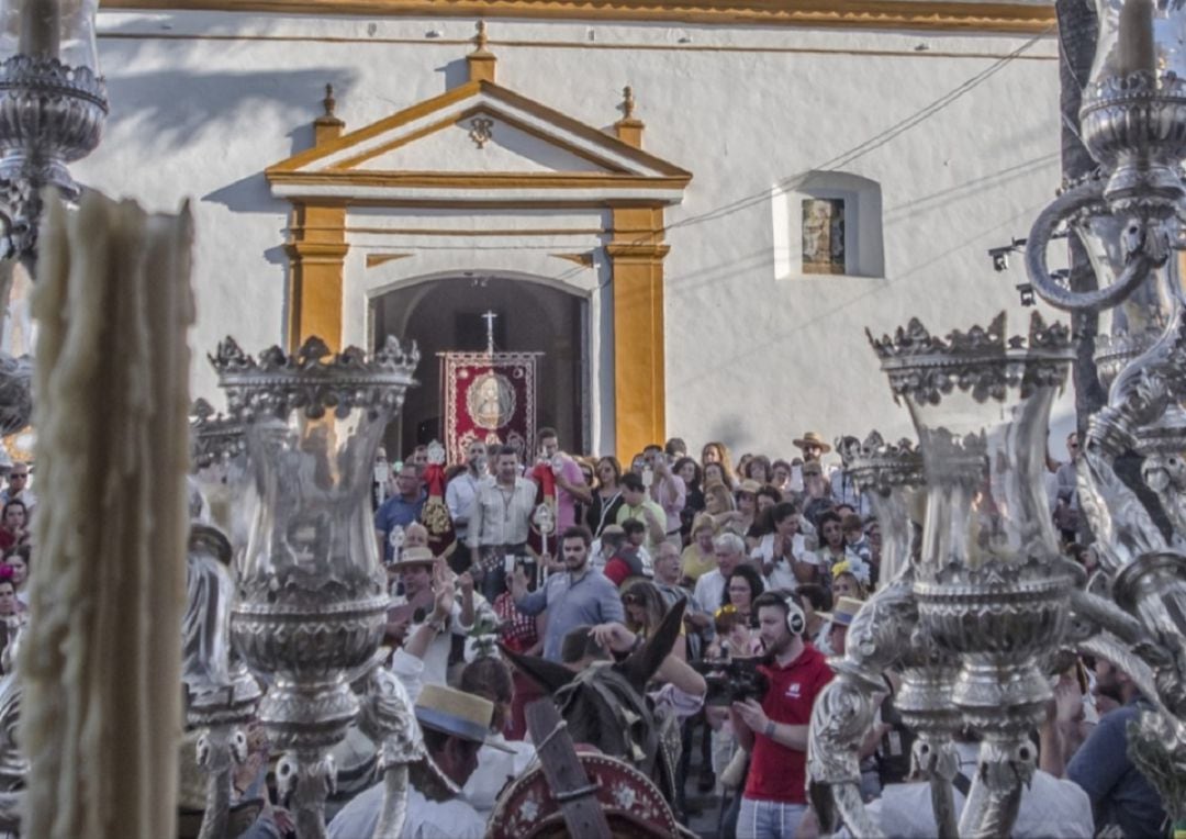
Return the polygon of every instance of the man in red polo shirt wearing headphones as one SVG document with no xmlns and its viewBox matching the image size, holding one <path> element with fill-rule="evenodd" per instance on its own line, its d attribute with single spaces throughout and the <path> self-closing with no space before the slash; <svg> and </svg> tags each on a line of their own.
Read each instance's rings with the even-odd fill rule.
<svg viewBox="0 0 1186 839">
<path fill-rule="evenodd" d="M 831 669 L 803 640 L 806 621 L 793 596 L 766 592 L 754 600 L 769 663 L 759 669 L 770 689 L 733 703 L 733 729 L 751 752 L 750 776 L 741 799 L 738 839 L 792 839 L 808 808 L 806 751 L 811 706 Z"/>
</svg>

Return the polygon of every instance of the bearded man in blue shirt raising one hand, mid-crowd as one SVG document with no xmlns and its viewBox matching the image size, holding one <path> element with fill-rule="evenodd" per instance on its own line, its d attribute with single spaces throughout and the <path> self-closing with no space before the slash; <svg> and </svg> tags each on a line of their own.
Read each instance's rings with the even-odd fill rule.
<svg viewBox="0 0 1186 839">
<path fill-rule="evenodd" d="M 565 572 L 554 573 L 536 591 L 527 590 L 527 573 L 515 568 L 511 597 L 524 615 L 548 610 L 548 628 L 543 637 L 543 657 L 560 662 L 560 648 L 569 630 L 626 619 L 618 587 L 600 572 L 589 568 L 589 545 L 593 534 L 587 527 L 565 530 L 560 541 Z"/>
</svg>

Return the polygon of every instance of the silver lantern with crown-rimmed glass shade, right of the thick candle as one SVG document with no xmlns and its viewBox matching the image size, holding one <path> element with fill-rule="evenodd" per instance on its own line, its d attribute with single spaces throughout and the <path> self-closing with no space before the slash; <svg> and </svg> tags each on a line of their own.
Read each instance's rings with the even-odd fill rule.
<svg viewBox="0 0 1186 839">
<path fill-rule="evenodd" d="M 395 338 L 374 357 L 317 338 L 259 361 L 228 339 L 211 358 L 246 427 L 254 521 L 237 562 L 231 634 L 272 684 L 259 716 L 301 837 L 324 835 L 330 748 L 358 712 L 349 680 L 383 635 L 388 595 L 368 503 L 383 430 L 419 361 Z"/>
</svg>

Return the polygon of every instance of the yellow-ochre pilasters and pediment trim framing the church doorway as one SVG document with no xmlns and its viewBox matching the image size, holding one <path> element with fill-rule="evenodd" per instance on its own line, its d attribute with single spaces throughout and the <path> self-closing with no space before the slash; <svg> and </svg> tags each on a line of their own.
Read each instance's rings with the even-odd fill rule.
<svg viewBox="0 0 1186 839">
<path fill-rule="evenodd" d="M 455 116 L 445 116 L 447 110 L 479 94 L 486 100 L 478 106 L 483 110 L 505 116 L 497 108 L 502 103 L 508 109 L 527 112 L 557 129 L 548 133 L 544 127 L 533 128 L 533 132 L 538 131 L 541 139 L 568 147 L 585 159 L 612 166 L 614 171 L 441 172 L 353 169 L 359 163 L 374 160 L 383 151 L 397 147 L 400 141 L 406 141 L 407 134 L 400 136 L 398 129 L 409 123 L 423 121 L 428 125 L 415 127 L 432 133 L 446 123 L 445 119 L 455 121 Z M 614 134 L 610 134 L 492 81 L 471 81 L 357 131 L 340 135 L 325 132 L 321 141 L 313 148 L 269 166 L 266 170 L 268 182 L 273 187 L 287 187 L 286 198 L 294 208 L 287 246 L 292 260 L 289 343 L 295 347 L 308 336 L 319 335 L 331 349 L 340 349 L 345 258 L 350 247 L 346 242 L 347 208 L 387 206 L 398 208 L 397 211 L 403 212 L 416 206 L 452 210 L 471 206 L 511 209 L 553 205 L 566 209 L 608 209 L 608 229 L 595 233 L 610 234 L 605 254 L 612 280 L 614 363 L 613 370 L 605 371 L 604 375 L 612 376 L 614 382 L 617 451 L 621 457 L 629 458 L 649 443 L 663 443 L 667 431 L 663 260 L 669 250 L 663 241 L 664 208 L 678 201 L 680 193 L 691 180 L 691 173 L 642 148 L 643 123 L 633 114 L 632 91 L 624 91 L 624 97 L 623 119 L 616 123 Z M 464 106 L 463 109 L 468 113 Z M 329 114 L 332 107 L 327 104 L 326 110 Z M 433 119 L 438 114 L 444 119 Z M 385 133 L 393 136 L 387 139 L 383 136 Z M 587 146 L 578 148 L 573 142 L 567 142 L 566 138 L 573 135 L 587 141 Z M 378 147 L 369 147 L 376 139 Z M 613 164 L 610 163 L 611 158 Z M 361 187 L 387 187 L 391 193 L 368 195 Z M 419 189 L 440 190 L 445 195 L 439 192 L 432 198 L 420 198 L 414 192 Z M 517 190 L 529 190 L 534 195 L 517 196 Z M 321 191 L 331 195 L 318 195 Z M 496 229 L 496 218 L 476 217 L 473 224 L 480 225 L 486 221 L 491 224 L 489 228 L 470 230 L 468 235 L 522 233 Z M 401 230 L 408 231 L 406 235 L 449 233 L 412 231 L 408 228 Z M 376 231 L 404 235 L 400 230 Z M 572 231 L 560 229 L 557 233 L 569 235 Z M 404 246 L 403 250 L 407 249 L 409 248 Z M 374 268 L 406 255 L 408 254 L 402 250 L 369 254 L 365 265 Z M 592 253 L 557 252 L 553 255 L 584 268 L 592 267 L 594 262 Z"/>
</svg>

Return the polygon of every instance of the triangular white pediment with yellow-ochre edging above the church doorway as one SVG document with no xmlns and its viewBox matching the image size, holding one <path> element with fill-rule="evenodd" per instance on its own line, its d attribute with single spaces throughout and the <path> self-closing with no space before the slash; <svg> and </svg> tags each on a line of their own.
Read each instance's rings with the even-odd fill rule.
<svg viewBox="0 0 1186 839">
<path fill-rule="evenodd" d="M 676 203 L 691 176 L 653 154 L 489 81 L 472 81 L 267 171 L 278 197 Z M 522 197 L 522 196 L 521 196 Z"/>
</svg>

